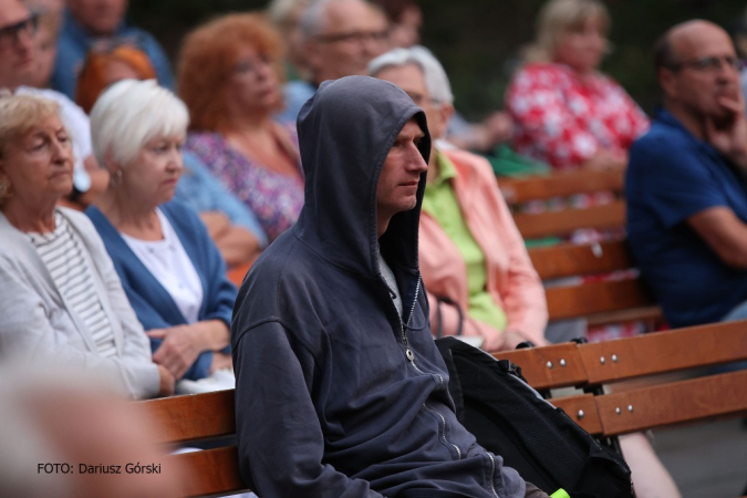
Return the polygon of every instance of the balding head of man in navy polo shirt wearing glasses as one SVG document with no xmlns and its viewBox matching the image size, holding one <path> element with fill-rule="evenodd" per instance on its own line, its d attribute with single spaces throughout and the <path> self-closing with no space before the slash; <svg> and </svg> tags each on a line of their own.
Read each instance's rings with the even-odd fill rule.
<svg viewBox="0 0 747 498">
<path fill-rule="evenodd" d="M 737 100 L 740 90 L 739 71 L 732 64 L 737 55 L 726 31 L 702 22 L 671 37 L 678 65 L 660 74 L 667 98 L 698 118 L 727 118 L 730 112 L 718 100 Z"/>
</svg>

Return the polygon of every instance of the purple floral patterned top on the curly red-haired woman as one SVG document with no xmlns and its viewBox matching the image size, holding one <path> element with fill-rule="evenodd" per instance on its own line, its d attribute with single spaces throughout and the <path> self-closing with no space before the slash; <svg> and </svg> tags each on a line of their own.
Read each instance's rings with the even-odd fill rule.
<svg viewBox="0 0 747 498">
<path fill-rule="evenodd" d="M 270 241 L 295 222 L 303 206 L 303 170 L 298 135 L 291 128 L 284 129 L 295 147 L 289 152 L 297 158 L 299 176 L 283 175 L 264 167 L 232 148 L 219 133 L 190 133 L 184 146 L 257 215 Z"/>
</svg>

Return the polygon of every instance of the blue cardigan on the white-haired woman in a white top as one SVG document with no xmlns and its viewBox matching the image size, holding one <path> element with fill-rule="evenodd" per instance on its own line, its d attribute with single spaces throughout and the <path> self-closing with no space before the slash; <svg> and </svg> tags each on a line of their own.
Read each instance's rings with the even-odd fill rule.
<svg viewBox="0 0 747 498">
<path fill-rule="evenodd" d="M 226 277 L 226 263 L 218 248 L 210 239 L 199 217 L 183 204 L 170 201 L 160 206 L 160 210 L 174 227 L 187 256 L 203 282 L 204 298 L 198 320 L 222 320 L 231 324 L 236 287 Z M 168 329 L 186 325 L 187 320 L 179 311 L 170 294 L 148 271 L 143 262 L 129 249 L 116 228 L 98 208 L 91 206 L 85 214 L 91 218 L 98 235 L 104 240 L 114 268 L 122 279 L 122 286 L 129 299 L 143 328 Z M 159 339 L 151 339 L 151 349 L 155 352 L 160 345 Z M 230 350 L 226 350 L 229 352 Z M 193 381 L 204 378 L 212 363 L 212 352 L 205 351 L 189 367 L 184 378 Z"/>
</svg>

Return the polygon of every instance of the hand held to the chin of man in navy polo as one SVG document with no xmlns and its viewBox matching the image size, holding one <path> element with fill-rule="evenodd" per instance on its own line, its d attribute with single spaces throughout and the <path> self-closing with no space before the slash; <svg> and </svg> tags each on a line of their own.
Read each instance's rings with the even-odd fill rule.
<svg viewBox="0 0 747 498">
<path fill-rule="evenodd" d="M 718 122 L 710 116 L 706 117 L 706 141 L 747 172 L 747 120 L 745 120 L 744 96 L 741 92 L 737 92 L 736 97 L 722 95 L 717 101 L 727 111 L 728 117 Z"/>
</svg>

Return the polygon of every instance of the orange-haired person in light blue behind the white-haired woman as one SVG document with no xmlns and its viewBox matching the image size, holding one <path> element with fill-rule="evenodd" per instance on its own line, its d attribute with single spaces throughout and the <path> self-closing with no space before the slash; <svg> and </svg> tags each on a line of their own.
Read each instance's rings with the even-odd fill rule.
<svg viewBox="0 0 747 498">
<path fill-rule="evenodd" d="M 129 45 L 111 52 L 89 52 L 77 80 L 75 98 L 91 112 L 98 95 L 121 80 L 151 80 L 155 71 L 147 55 Z M 246 264 L 267 246 L 257 217 L 218 181 L 194 154 L 184 155 L 184 172 L 174 199 L 199 212 L 210 238 L 229 267 Z"/>
</svg>

